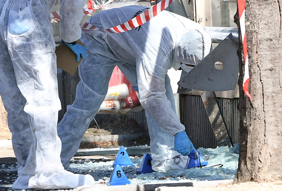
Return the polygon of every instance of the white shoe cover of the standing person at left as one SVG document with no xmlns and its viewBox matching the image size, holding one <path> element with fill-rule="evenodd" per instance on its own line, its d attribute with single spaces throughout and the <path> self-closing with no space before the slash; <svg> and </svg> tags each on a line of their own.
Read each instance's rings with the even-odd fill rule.
<svg viewBox="0 0 282 191">
<path fill-rule="evenodd" d="M 39 189 L 69 189 L 79 186 L 93 187 L 94 178 L 87 174 L 74 174 L 67 170 L 60 170 L 53 173 L 36 174 L 28 181 L 28 188 Z"/>
</svg>

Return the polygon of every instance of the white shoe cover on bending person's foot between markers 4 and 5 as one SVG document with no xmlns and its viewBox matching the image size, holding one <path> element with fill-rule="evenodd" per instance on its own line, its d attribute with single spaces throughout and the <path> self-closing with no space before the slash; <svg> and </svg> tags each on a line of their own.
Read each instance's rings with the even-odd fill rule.
<svg viewBox="0 0 282 191">
<path fill-rule="evenodd" d="M 152 169 L 155 171 L 168 171 L 184 169 L 188 161 L 188 156 L 178 155 L 163 161 L 152 160 Z"/>
</svg>

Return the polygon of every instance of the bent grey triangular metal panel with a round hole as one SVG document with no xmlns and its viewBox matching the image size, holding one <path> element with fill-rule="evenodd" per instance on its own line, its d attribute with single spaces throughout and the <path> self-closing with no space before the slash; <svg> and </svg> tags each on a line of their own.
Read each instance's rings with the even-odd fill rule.
<svg viewBox="0 0 282 191">
<path fill-rule="evenodd" d="M 239 58 L 236 40 L 230 33 L 224 41 L 202 59 L 189 73 L 180 79 L 178 85 L 201 91 L 233 90 L 239 73 Z M 216 69 L 221 62 L 223 69 Z"/>
</svg>

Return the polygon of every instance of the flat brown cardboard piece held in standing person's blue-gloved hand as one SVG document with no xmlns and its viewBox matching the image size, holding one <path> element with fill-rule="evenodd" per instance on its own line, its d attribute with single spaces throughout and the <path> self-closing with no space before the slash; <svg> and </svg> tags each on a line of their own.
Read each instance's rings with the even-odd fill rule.
<svg viewBox="0 0 282 191">
<path fill-rule="evenodd" d="M 76 43 L 85 46 L 80 39 Z M 74 75 L 82 57 L 80 56 L 79 62 L 76 62 L 76 54 L 65 43 L 56 48 L 55 54 L 57 56 L 57 67 Z"/>
</svg>

